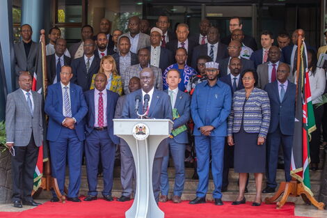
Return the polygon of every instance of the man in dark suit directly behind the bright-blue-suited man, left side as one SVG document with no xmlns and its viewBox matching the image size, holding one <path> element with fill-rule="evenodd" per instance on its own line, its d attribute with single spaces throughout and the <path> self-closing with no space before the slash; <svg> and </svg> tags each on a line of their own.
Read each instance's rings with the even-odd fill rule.
<svg viewBox="0 0 327 218">
<path fill-rule="evenodd" d="M 65 56 L 66 40 L 58 38 L 54 45 L 55 53 L 47 56 L 48 85 L 60 81 L 60 72 L 63 65 L 70 65 L 70 58 Z"/>
</svg>

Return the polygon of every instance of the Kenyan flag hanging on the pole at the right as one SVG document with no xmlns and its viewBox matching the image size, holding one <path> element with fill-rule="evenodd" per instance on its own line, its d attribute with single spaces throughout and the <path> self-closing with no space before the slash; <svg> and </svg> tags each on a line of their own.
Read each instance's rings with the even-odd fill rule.
<svg viewBox="0 0 327 218">
<path fill-rule="evenodd" d="M 291 158 L 291 176 L 302 183 L 306 191 L 310 190 L 310 145 L 311 132 L 316 130 L 313 105 L 311 101 L 309 72 L 305 43 L 301 46 L 300 68 L 296 73 L 296 112 L 294 139 Z M 294 63 L 295 65 L 296 63 Z M 295 66 L 294 66 L 295 67 Z"/>
</svg>

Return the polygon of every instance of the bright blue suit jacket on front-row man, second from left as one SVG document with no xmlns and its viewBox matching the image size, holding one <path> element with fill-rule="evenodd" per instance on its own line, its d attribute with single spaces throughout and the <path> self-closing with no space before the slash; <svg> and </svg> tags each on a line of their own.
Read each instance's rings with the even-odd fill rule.
<svg viewBox="0 0 327 218">
<path fill-rule="evenodd" d="M 75 131 L 79 141 L 85 139 L 84 134 L 84 116 L 88 112 L 81 86 L 70 83 L 70 105 L 72 108 L 72 117 L 75 118 Z M 65 116 L 63 116 L 63 92 L 61 83 L 58 82 L 47 88 L 47 98 L 45 99 L 45 113 L 49 115 L 49 125 L 47 130 L 47 140 L 56 141 L 65 127 L 61 125 Z"/>
</svg>

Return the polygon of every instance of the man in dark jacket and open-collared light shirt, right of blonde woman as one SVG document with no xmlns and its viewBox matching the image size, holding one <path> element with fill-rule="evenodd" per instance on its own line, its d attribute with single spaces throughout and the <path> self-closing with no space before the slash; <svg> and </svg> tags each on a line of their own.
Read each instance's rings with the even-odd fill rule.
<svg viewBox="0 0 327 218">
<path fill-rule="evenodd" d="M 137 54 L 130 52 L 131 42 L 127 36 L 120 36 L 120 38 L 118 38 L 118 49 L 119 52 L 113 54 L 113 59 L 115 59 L 115 65 L 120 75 L 120 73 L 125 72 L 129 66 L 138 64 L 138 57 Z"/>
</svg>

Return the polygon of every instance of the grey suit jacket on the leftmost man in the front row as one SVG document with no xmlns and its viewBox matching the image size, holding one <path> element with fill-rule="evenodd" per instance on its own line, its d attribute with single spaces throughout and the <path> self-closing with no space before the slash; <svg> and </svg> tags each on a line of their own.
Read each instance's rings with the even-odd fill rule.
<svg viewBox="0 0 327 218">
<path fill-rule="evenodd" d="M 6 104 L 6 134 L 7 142 L 14 146 L 27 146 L 33 137 L 36 146 L 41 146 L 43 140 L 42 127 L 42 95 L 32 91 L 33 116 L 27 104 L 22 89 L 17 89 L 7 96 Z"/>
</svg>

